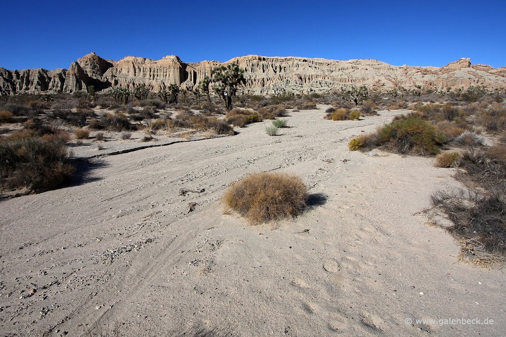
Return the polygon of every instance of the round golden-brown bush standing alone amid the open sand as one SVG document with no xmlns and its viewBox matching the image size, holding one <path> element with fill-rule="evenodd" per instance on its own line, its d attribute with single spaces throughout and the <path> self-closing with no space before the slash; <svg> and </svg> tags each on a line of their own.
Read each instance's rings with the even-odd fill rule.
<svg viewBox="0 0 506 337">
<path fill-rule="evenodd" d="M 250 174 L 230 186 L 223 201 L 251 224 L 259 224 L 301 214 L 308 196 L 300 177 L 265 172 Z"/>
</svg>

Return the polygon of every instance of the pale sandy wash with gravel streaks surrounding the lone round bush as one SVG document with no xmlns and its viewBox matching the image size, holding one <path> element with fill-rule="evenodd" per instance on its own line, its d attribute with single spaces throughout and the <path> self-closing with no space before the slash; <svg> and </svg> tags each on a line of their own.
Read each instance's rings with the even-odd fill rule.
<svg viewBox="0 0 506 337">
<path fill-rule="evenodd" d="M 206 325 L 237 336 L 506 334 L 505 269 L 460 262 L 450 235 L 412 215 L 457 186 L 452 170 L 348 151 L 351 135 L 398 111 L 333 122 L 320 108 L 291 113 L 280 136 L 257 123 L 94 159 L 80 185 L 0 203 L 0 334 L 78 336 L 113 318 L 153 336 Z M 267 170 L 301 175 L 326 200 L 275 229 L 223 215 L 224 189 Z M 178 196 L 183 187 L 205 191 Z"/>
</svg>

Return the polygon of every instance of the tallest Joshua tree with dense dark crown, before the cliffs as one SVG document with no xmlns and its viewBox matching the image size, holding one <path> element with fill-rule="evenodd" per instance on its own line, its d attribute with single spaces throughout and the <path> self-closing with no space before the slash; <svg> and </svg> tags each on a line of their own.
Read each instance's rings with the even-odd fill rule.
<svg viewBox="0 0 506 337">
<path fill-rule="evenodd" d="M 240 69 L 235 62 L 227 66 L 216 67 L 211 71 L 215 92 L 225 102 L 227 110 L 232 109 L 232 101 L 236 97 L 238 86 L 246 83 L 243 74 L 244 70 Z"/>
</svg>

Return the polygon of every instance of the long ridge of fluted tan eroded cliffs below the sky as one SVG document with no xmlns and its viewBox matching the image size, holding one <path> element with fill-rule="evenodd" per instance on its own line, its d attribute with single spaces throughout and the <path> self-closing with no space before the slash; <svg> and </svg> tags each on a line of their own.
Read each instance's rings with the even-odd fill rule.
<svg viewBox="0 0 506 337">
<path fill-rule="evenodd" d="M 393 87 L 413 88 L 422 85 L 435 90 L 485 85 L 503 87 L 506 68 L 473 65 L 463 58 L 444 67 L 392 66 L 377 60 L 335 61 L 301 57 L 264 57 L 248 55 L 234 58 L 245 69 L 246 93 L 276 94 L 283 92 L 328 92 L 349 85 L 366 85 L 380 91 Z M 185 63 L 177 56 L 161 60 L 125 57 L 120 61 L 104 60 L 95 53 L 72 62 L 68 69 L 7 70 L 0 68 L 0 87 L 10 93 L 74 92 L 108 87 L 145 84 L 152 90 L 170 84 L 192 88 L 217 61 Z"/>
</svg>

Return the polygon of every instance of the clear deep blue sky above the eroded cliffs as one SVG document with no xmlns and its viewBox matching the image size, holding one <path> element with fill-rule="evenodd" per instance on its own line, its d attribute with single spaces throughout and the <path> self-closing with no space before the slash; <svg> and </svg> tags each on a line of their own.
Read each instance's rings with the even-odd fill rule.
<svg viewBox="0 0 506 337">
<path fill-rule="evenodd" d="M 185 62 L 236 56 L 506 66 L 506 1 L 0 0 L 0 67 L 68 68 L 90 52 Z"/>
</svg>

